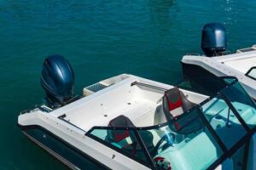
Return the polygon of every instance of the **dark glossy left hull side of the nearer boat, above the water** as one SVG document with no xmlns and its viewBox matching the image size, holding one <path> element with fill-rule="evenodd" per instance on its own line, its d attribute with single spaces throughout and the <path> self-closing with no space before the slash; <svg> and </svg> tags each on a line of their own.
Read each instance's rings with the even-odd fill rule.
<svg viewBox="0 0 256 170">
<path fill-rule="evenodd" d="M 96 161 L 73 145 L 50 133 L 44 127 L 20 126 L 22 132 L 32 142 L 46 150 L 51 156 L 61 161 L 67 167 L 74 170 L 82 169 L 109 169 L 101 162 Z"/>
</svg>

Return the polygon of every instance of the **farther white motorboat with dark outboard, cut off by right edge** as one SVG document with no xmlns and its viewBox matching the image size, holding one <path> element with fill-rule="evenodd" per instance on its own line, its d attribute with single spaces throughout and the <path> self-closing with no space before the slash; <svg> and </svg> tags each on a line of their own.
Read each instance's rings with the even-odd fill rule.
<svg viewBox="0 0 256 170">
<path fill-rule="evenodd" d="M 205 54 L 186 54 L 181 63 L 185 79 L 195 79 L 199 84 L 208 84 L 205 77 L 236 77 L 253 99 L 256 99 L 256 45 L 237 49 L 236 53 L 227 50 L 224 26 L 210 23 L 204 26 L 201 34 L 201 48 Z M 214 87 L 213 87 L 214 88 Z"/>
</svg>

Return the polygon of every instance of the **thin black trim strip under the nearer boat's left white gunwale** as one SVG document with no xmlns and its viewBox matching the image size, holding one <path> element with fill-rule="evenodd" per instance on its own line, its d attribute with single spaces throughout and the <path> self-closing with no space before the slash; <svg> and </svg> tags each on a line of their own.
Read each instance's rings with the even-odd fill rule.
<svg viewBox="0 0 256 170">
<path fill-rule="evenodd" d="M 17 123 L 17 126 L 20 127 L 20 129 L 22 131 L 26 131 L 29 129 L 39 129 L 45 133 L 48 133 L 50 137 L 52 137 L 53 139 L 57 140 L 58 142 L 60 142 L 61 144 L 66 145 L 69 149 L 75 151 L 76 153 L 78 153 L 80 156 L 83 156 L 84 158 L 86 158 L 88 161 L 91 161 L 93 163 L 95 163 L 96 165 L 102 167 L 103 169 L 111 169 L 109 167 L 107 167 L 106 165 L 102 164 L 101 161 L 97 161 L 95 158 L 87 155 L 86 153 L 84 153 L 82 150 L 79 150 L 78 148 L 74 147 L 72 144 L 67 143 L 67 141 L 61 139 L 60 137 L 56 136 L 54 133 L 50 132 L 48 129 L 38 126 L 38 125 L 28 125 L 28 126 L 22 126 L 19 123 Z"/>
</svg>

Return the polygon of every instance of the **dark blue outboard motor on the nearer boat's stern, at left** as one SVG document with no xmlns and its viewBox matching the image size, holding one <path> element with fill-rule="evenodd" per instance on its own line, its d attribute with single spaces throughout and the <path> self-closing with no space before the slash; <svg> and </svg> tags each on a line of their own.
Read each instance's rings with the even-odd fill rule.
<svg viewBox="0 0 256 170">
<path fill-rule="evenodd" d="M 63 56 L 50 55 L 44 60 L 41 85 L 51 108 L 67 105 L 74 98 L 74 75 L 71 65 Z"/>
</svg>

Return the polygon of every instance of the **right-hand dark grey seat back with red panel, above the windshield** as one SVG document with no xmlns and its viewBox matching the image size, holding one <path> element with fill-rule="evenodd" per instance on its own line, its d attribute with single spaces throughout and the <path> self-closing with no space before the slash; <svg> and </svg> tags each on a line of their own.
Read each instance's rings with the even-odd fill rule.
<svg viewBox="0 0 256 170">
<path fill-rule="evenodd" d="M 183 114 L 183 112 L 188 111 L 195 105 L 178 88 L 167 90 L 163 96 L 163 111 L 167 121 Z"/>
</svg>

